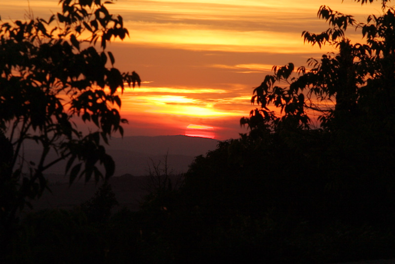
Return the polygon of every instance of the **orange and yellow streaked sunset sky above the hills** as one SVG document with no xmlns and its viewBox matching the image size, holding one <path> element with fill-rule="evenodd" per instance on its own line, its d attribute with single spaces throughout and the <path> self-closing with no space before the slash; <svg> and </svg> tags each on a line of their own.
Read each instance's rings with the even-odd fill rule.
<svg viewBox="0 0 395 264">
<path fill-rule="evenodd" d="M 60 12 L 58 0 L 30 0 L 34 16 Z M 109 46 L 121 71 L 136 71 L 140 88 L 126 88 L 121 114 L 129 120 L 125 136 L 191 135 L 209 128 L 225 140 L 245 133 L 252 87 L 273 65 L 306 65 L 330 51 L 304 44 L 301 33 L 320 33 L 320 5 L 363 22 L 380 14 L 380 2 L 352 0 L 118 0 L 108 5 L 123 17 L 130 38 Z M 1 0 L 2 22 L 24 19 L 28 0 Z M 361 35 L 348 32 L 355 41 Z M 190 126 L 189 125 L 195 125 Z M 207 135 L 207 133 L 205 134 Z"/>
</svg>

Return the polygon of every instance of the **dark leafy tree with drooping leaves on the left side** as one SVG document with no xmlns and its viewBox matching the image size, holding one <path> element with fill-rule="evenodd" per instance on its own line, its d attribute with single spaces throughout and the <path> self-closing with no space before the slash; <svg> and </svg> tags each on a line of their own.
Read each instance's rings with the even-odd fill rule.
<svg viewBox="0 0 395 264">
<path fill-rule="evenodd" d="M 117 90 L 123 91 L 124 82 L 140 85 L 140 78 L 120 73 L 112 53 L 105 51 L 107 42 L 128 35 L 122 17 L 105 6 L 113 2 L 60 0 L 62 11 L 48 20 L 30 14 L 29 21 L 0 25 L 1 145 L 12 146 L 1 159 L 0 183 L 2 189 L 15 189 L 8 201 L 1 200 L 3 225 L 13 221 L 27 198 L 40 196 L 47 182 L 44 171 L 61 160 L 68 160 L 70 184 L 77 177 L 89 181 L 94 175 L 98 181 L 114 173 L 102 142 L 114 132 L 123 134 L 121 124 L 127 120 L 118 112 Z M 96 130 L 83 134 L 75 118 L 92 122 Z M 37 163 L 25 159 L 29 141 L 41 148 Z"/>
</svg>

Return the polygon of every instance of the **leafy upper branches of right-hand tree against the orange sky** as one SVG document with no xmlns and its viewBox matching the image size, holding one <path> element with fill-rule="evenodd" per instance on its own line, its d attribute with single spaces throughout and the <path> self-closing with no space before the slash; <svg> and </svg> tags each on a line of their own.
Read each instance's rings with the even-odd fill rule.
<svg viewBox="0 0 395 264">
<path fill-rule="evenodd" d="M 324 54 L 320 61 L 309 59 L 310 69 L 298 68 L 298 76 L 292 63 L 274 66 L 274 75 L 267 75 L 254 88 L 251 103 L 257 103 L 260 109 L 251 111 L 250 117 L 241 118 L 240 123 L 252 129 L 259 123 L 275 130 L 309 129 L 309 113 L 314 111 L 326 130 L 368 122 L 378 129 L 385 128 L 386 134 L 393 133 L 395 9 L 387 7 L 387 1 L 382 2 L 383 15 L 371 15 L 367 23 L 357 23 L 351 15 L 321 6 L 318 17 L 330 28 L 320 34 L 304 31 L 302 37 L 320 47 L 332 45 L 339 52 Z M 359 30 L 366 44 L 352 43 L 345 36 L 348 28 Z M 270 105 L 281 110 L 280 117 L 269 109 Z"/>
</svg>

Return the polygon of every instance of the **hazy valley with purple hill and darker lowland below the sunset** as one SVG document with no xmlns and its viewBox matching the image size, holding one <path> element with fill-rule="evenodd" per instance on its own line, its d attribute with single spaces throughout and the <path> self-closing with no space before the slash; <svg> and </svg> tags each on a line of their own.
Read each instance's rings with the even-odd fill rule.
<svg viewBox="0 0 395 264">
<path fill-rule="evenodd" d="M 110 179 L 112 189 L 119 202 L 118 208 L 126 206 L 137 210 L 141 197 L 148 193 L 146 190 L 147 176 L 153 165 L 163 162 L 167 154 L 169 172 L 178 175 L 188 170 L 188 166 L 198 155 L 205 155 L 214 150 L 218 141 L 208 138 L 177 136 L 135 136 L 113 138 L 106 147 L 116 162 L 116 171 Z M 35 160 L 38 155 L 38 145 L 30 142 L 26 148 L 28 160 Z M 66 162 L 48 170 L 47 179 L 51 192 L 34 202 L 34 210 L 44 208 L 73 208 L 91 198 L 99 184 L 93 180 L 84 183 L 79 179 L 69 186 L 69 178 L 65 175 Z"/>
</svg>

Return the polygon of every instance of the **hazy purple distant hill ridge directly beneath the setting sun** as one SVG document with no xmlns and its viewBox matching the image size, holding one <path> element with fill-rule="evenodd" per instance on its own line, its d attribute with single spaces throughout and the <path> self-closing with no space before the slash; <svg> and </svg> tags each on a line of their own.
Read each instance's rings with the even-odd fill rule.
<svg viewBox="0 0 395 264">
<path fill-rule="evenodd" d="M 147 175 L 149 167 L 164 160 L 167 155 L 167 164 L 174 173 L 182 173 L 188 170 L 189 164 L 198 155 L 205 155 L 214 150 L 217 140 L 199 137 L 178 136 L 134 136 L 112 138 L 106 146 L 108 153 L 116 162 L 114 176 L 131 174 L 134 176 Z M 39 145 L 30 142 L 24 146 L 27 160 L 37 162 L 39 157 Z M 52 155 L 56 156 L 55 153 Z M 64 177 L 66 162 L 48 169 L 45 173 L 50 174 L 51 182 L 67 182 Z"/>
</svg>

